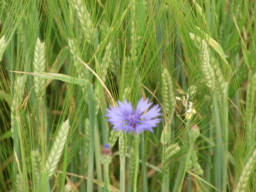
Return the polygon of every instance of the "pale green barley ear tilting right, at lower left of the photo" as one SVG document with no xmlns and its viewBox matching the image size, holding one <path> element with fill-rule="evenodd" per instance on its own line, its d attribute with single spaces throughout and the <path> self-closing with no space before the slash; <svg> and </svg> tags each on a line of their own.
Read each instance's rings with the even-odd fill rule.
<svg viewBox="0 0 256 192">
<path fill-rule="evenodd" d="M 48 179 L 54 174 L 57 168 L 60 156 L 62 154 L 63 148 L 69 134 L 69 119 L 62 123 L 60 130 L 53 142 L 50 154 L 48 155 L 45 168 L 48 172 Z"/>
</svg>

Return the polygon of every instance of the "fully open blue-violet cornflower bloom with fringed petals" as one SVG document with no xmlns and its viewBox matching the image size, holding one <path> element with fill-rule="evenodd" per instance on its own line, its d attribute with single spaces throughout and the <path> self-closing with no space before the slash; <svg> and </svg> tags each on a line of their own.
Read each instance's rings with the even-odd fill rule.
<svg viewBox="0 0 256 192">
<path fill-rule="evenodd" d="M 124 102 L 118 101 L 119 106 L 106 109 L 108 121 L 114 125 L 113 129 L 115 131 L 122 130 L 125 133 L 136 132 L 137 134 L 143 132 L 144 130 L 149 130 L 153 132 L 153 127 L 157 126 L 157 123 L 161 119 L 156 118 L 161 115 L 161 108 L 158 105 L 154 105 L 146 113 L 145 111 L 152 105 L 148 103 L 148 98 L 143 101 L 143 97 L 138 101 L 137 108 L 133 109 L 131 102 L 127 102 L 124 99 Z"/>
</svg>

